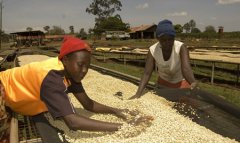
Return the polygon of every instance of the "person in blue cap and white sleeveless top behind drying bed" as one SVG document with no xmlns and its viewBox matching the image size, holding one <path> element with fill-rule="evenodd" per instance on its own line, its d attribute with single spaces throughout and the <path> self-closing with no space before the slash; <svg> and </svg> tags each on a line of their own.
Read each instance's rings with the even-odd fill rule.
<svg viewBox="0 0 240 143">
<path fill-rule="evenodd" d="M 154 66 L 157 67 L 158 84 L 168 88 L 195 88 L 186 46 L 175 40 L 176 32 L 170 20 L 160 21 L 156 29 L 158 42 L 149 48 L 144 74 L 138 90 L 130 99 L 139 98 L 143 94 Z"/>
</svg>

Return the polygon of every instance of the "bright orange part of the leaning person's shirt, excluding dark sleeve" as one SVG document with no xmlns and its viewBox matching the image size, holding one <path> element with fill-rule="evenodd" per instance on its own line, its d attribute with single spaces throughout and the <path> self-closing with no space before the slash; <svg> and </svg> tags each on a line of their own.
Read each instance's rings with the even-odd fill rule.
<svg viewBox="0 0 240 143">
<path fill-rule="evenodd" d="M 51 70 L 63 70 L 58 58 L 0 72 L 0 80 L 6 91 L 6 106 L 23 115 L 36 115 L 48 111 L 44 102 L 40 100 L 40 90 L 43 80 Z"/>
</svg>

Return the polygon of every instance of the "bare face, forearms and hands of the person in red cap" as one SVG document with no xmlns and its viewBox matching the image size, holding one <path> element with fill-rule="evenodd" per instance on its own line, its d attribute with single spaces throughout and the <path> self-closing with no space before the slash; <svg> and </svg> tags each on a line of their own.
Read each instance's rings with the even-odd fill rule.
<svg viewBox="0 0 240 143">
<path fill-rule="evenodd" d="M 71 53 L 64 56 L 62 63 L 64 65 L 65 75 L 68 78 L 72 78 L 75 82 L 80 82 L 88 72 L 90 66 L 91 54 L 88 51 L 82 50 Z M 110 113 L 120 118 L 126 119 L 124 112 L 127 109 L 112 108 L 103 104 L 100 104 L 88 97 L 85 92 L 73 93 L 78 101 L 83 105 L 84 109 L 95 113 Z M 131 112 L 130 112 L 131 113 Z M 86 130 L 86 131 L 117 131 L 122 124 L 103 122 L 93 120 L 82 115 L 70 114 L 63 117 L 65 123 L 72 130 Z M 148 120 L 146 117 L 141 117 L 136 124 Z"/>
</svg>

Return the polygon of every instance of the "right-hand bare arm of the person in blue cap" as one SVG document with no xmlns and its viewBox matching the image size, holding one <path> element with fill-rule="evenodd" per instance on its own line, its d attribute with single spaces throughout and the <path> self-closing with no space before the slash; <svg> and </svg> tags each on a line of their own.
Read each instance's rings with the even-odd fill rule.
<svg viewBox="0 0 240 143">
<path fill-rule="evenodd" d="M 185 45 L 182 45 L 180 50 L 182 74 L 189 84 L 196 82 L 193 71 L 190 65 L 189 51 Z"/>
</svg>

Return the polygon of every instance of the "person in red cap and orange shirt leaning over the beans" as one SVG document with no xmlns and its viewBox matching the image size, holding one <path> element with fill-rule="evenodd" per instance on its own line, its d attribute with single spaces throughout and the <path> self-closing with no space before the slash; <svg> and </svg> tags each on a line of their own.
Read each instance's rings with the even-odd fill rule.
<svg viewBox="0 0 240 143">
<path fill-rule="evenodd" d="M 126 118 L 127 109 L 100 104 L 90 99 L 84 91 L 81 80 L 90 66 L 90 51 L 86 42 L 68 36 L 65 37 L 57 58 L 0 72 L 0 86 L 5 89 L 5 92 L 0 94 L 5 103 L 1 104 L 1 109 L 7 106 L 14 112 L 32 116 L 45 143 L 61 142 L 56 129 L 50 126 L 44 117 L 46 112 L 54 119 L 63 119 L 71 130 L 118 130 L 122 124 L 77 115 L 68 98 L 68 93 L 73 93 L 88 111 L 111 113 Z M 4 115 L 5 109 L 1 111 Z M 3 117 L 5 116 L 0 118 L 1 122 L 5 119 Z M 147 118 L 142 117 L 136 123 L 145 120 Z"/>
</svg>

